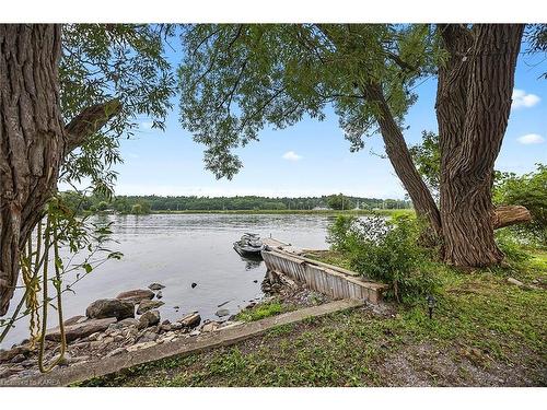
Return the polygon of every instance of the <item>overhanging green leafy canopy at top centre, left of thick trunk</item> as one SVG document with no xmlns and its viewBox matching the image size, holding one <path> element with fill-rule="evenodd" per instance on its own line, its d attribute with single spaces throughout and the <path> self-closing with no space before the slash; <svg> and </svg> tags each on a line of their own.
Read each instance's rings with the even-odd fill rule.
<svg viewBox="0 0 547 410">
<path fill-rule="evenodd" d="M 200 24 L 185 30 L 183 44 L 181 122 L 207 145 L 206 167 L 219 178 L 241 168 L 233 151 L 266 126 L 322 120 L 330 105 L 351 149 L 363 148 L 377 107 L 362 85 L 381 82 L 401 121 L 439 56 L 423 24 Z"/>
</svg>

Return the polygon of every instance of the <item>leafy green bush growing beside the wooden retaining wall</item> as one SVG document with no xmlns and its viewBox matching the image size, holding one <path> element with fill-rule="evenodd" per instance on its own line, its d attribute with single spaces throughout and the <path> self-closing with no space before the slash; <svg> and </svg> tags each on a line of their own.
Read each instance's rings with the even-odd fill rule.
<svg viewBox="0 0 547 410">
<path fill-rule="evenodd" d="M 421 227 L 407 215 L 386 221 L 338 216 L 328 229 L 327 242 L 340 251 L 353 270 L 392 285 L 391 295 L 408 301 L 433 291 L 435 263 L 418 245 Z"/>
</svg>

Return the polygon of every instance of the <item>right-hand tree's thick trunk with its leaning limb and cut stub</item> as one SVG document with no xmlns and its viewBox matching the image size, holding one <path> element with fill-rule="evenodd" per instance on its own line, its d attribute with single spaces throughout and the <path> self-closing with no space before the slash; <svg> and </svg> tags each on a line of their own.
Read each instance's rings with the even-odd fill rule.
<svg viewBox="0 0 547 410">
<path fill-rule="evenodd" d="M 319 30 L 337 45 L 328 27 Z M 493 230 L 529 221 L 523 207 L 496 210 L 493 163 L 511 108 L 522 25 L 439 25 L 450 59 L 439 68 L 437 114 L 441 137 L 441 203 L 437 207 L 412 163 L 382 85 L 361 84 L 379 107 L 377 121 L 389 161 L 417 214 L 442 237 L 443 255 L 456 266 L 488 266 L 503 254 Z M 353 45 L 358 47 L 358 45 Z"/>
</svg>

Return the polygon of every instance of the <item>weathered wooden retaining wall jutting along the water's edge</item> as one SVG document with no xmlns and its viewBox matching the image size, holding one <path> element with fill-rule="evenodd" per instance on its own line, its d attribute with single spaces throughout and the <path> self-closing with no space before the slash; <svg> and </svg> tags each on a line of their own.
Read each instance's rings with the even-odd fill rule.
<svg viewBox="0 0 547 410">
<path fill-rule="evenodd" d="M 379 303 L 387 289 L 383 283 L 371 282 L 357 273 L 333 265 L 323 263 L 281 249 L 263 250 L 266 267 L 276 273 L 304 283 L 314 291 L 336 300 L 352 298 Z"/>
</svg>

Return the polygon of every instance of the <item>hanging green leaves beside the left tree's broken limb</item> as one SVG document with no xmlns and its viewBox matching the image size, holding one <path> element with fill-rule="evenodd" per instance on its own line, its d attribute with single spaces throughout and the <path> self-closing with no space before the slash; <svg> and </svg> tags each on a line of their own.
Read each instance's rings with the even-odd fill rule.
<svg viewBox="0 0 547 410">
<path fill-rule="evenodd" d="M 90 180 L 94 190 L 112 192 L 121 162 L 119 138 L 132 136 L 136 118 L 146 116 L 163 129 L 175 90 L 163 55 L 174 27 L 154 24 L 65 24 L 59 65 L 61 109 L 68 124 L 84 108 L 114 98 L 121 112 L 68 156 L 61 180 Z M 105 113 L 107 114 L 107 113 Z"/>
</svg>

